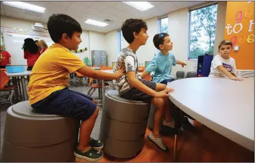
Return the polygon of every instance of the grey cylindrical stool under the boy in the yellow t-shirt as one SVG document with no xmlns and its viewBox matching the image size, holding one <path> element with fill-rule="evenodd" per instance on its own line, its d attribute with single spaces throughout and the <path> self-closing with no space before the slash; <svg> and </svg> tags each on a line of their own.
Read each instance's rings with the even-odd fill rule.
<svg viewBox="0 0 256 163">
<path fill-rule="evenodd" d="M 28 101 L 8 108 L 1 162 L 67 162 L 74 158 L 77 120 L 38 114 Z"/>
</svg>

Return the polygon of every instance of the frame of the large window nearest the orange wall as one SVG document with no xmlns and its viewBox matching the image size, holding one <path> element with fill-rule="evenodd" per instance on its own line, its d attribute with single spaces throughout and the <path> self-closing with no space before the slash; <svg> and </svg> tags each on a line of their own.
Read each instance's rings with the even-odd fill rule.
<svg viewBox="0 0 256 163">
<path fill-rule="evenodd" d="M 206 8 L 208 6 L 213 6 L 217 4 L 218 5 L 218 1 L 212 1 L 210 3 L 203 3 L 203 4 L 200 4 L 198 6 L 193 6 L 191 8 L 189 8 L 189 12 L 188 12 L 188 33 L 189 33 L 189 36 L 188 36 L 188 41 L 187 41 L 187 57 L 186 57 L 186 61 L 197 61 L 198 59 L 189 59 L 189 53 L 190 53 L 190 42 L 191 42 L 191 12 L 194 11 L 194 10 L 200 10 L 201 8 Z M 218 9 L 217 9 L 217 15 L 218 15 Z M 218 19 L 216 20 L 216 26 L 217 26 L 217 21 Z M 216 38 L 215 38 L 216 39 Z"/>
</svg>

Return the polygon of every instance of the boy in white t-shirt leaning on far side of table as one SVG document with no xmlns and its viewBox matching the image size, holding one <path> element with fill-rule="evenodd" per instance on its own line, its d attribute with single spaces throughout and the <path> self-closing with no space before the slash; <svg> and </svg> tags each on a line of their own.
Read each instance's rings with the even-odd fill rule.
<svg viewBox="0 0 256 163">
<path fill-rule="evenodd" d="M 234 81 L 243 81 L 243 79 L 238 78 L 235 74 L 237 73 L 237 68 L 235 66 L 235 59 L 231 58 L 229 55 L 232 52 L 233 44 L 229 40 L 222 40 L 218 46 L 219 54 L 217 54 L 210 66 L 209 77 L 229 77 Z"/>
</svg>

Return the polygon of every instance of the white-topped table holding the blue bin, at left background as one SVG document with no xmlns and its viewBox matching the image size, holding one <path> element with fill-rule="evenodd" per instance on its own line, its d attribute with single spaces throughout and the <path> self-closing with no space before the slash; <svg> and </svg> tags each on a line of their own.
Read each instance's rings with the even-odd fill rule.
<svg viewBox="0 0 256 163">
<path fill-rule="evenodd" d="M 25 72 L 17 72 L 17 73 L 7 73 L 8 77 L 14 77 L 17 78 L 17 84 L 19 86 L 19 90 L 21 92 L 22 100 L 26 101 L 28 100 L 28 93 L 26 89 L 26 82 L 25 82 L 25 76 L 27 76 L 27 79 L 29 81 L 29 77 L 31 74 L 31 71 L 25 71 Z M 19 77 L 21 77 L 21 82 L 19 82 Z"/>
</svg>

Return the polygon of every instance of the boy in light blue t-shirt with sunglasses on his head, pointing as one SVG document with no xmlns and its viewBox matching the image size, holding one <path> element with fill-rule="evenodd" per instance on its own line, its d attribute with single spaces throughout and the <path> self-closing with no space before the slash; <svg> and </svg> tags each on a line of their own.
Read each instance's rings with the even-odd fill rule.
<svg viewBox="0 0 256 163">
<path fill-rule="evenodd" d="M 143 79 L 146 75 L 151 74 L 151 72 L 155 72 L 153 82 L 160 82 L 167 85 L 167 82 L 175 81 L 171 77 L 172 66 L 178 64 L 184 67 L 186 64 L 176 60 L 173 53 L 170 52 L 173 49 L 173 42 L 171 42 L 170 36 L 167 33 L 155 35 L 153 43 L 160 52 L 152 59 L 146 70 L 142 72 L 141 78 Z M 166 126 L 166 120 L 163 121 L 162 125 Z M 187 129 L 192 127 L 191 123 L 185 117 L 182 120 L 182 127 L 187 127 Z"/>
</svg>

